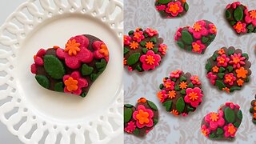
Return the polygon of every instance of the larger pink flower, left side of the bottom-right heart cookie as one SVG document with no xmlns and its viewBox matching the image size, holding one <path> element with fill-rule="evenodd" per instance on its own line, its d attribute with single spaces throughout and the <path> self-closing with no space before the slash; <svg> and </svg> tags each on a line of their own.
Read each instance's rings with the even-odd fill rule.
<svg viewBox="0 0 256 144">
<path fill-rule="evenodd" d="M 225 120 L 223 118 L 223 111 L 218 110 L 218 114 L 211 112 L 210 114 L 207 114 L 205 117 L 205 122 L 209 123 L 210 130 L 216 130 L 219 127 L 224 126 Z"/>
</svg>

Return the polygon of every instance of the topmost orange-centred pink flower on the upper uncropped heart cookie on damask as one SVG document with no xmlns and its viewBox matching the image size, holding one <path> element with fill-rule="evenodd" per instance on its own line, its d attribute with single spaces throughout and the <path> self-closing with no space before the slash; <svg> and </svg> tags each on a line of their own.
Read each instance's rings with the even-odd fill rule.
<svg viewBox="0 0 256 144">
<path fill-rule="evenodd" d="M 202 36 L 208 35 L 205 21 L 198 21 L 194 24 L 194 27 L 189 28 L 189 32 L 193 34 L 194 38 L 201 39 Z"/>
</svg>

